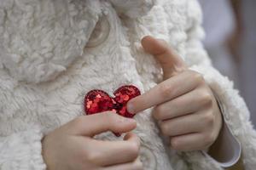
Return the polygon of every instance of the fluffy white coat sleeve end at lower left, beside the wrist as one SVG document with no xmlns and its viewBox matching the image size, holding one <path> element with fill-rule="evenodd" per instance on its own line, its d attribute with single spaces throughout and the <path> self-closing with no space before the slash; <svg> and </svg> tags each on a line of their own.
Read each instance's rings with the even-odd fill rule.
<svg viewBox="0 0 256 170">
<path fill-rule="evenodd" d="M 44 170 L 41 139 L 37 127 L 9 136 L 0 136 L 0 169 Z"/>
</svg>

